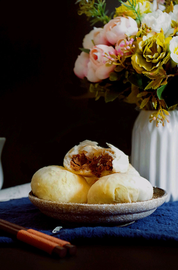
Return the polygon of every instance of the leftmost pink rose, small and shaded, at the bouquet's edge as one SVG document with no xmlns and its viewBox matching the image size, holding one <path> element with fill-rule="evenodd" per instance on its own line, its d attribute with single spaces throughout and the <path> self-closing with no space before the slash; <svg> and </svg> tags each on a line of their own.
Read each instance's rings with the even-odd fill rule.
<svg viewBox="0 0 178 270">
<path fill-rule="evenodd" d="M 77 60 L 75 61 L 74 73 L 77 77 L 83 79 L 87 76 L 88 73 L 88 62 L 89 62 L 89 54 L 86 52 L 81 52 L 78 55 Z"/>
</svg>

